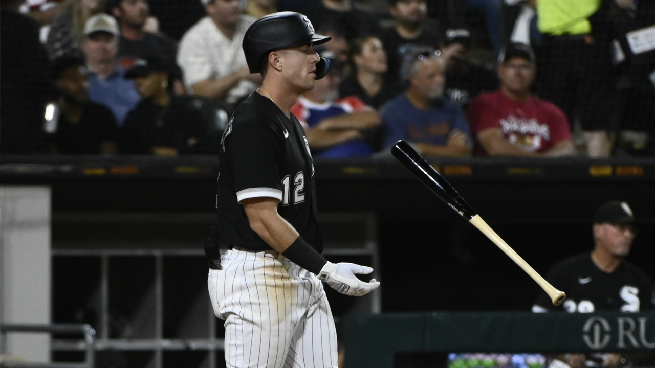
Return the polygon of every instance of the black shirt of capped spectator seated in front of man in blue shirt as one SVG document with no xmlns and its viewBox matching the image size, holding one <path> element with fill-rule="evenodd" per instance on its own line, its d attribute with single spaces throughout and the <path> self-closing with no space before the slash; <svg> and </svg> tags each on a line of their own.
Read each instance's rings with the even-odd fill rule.
<svg viewBox="0 0 655 368">
<path fill-rule="evenodd" d="M 105 105 L 86 102 L 80 120 L 73 124 L 64 114 L 57 122 L 57 131 L 49 142 L 61 155 L 99 155 L 100 145 L 117 141 L 118 125 L 111 110 Z"/>
</svg>

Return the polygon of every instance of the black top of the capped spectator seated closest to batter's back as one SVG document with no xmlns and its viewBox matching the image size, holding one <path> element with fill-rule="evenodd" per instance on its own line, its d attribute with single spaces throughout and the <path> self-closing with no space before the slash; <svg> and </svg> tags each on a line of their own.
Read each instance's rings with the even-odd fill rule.
<svg viewBox="0 0 655 368">
<path fill-rule="evenodd" d="M 119 153 L 151 155 L 153 147 L 174 148 L 182 155 L 202 153 L 205 125 L 202 115 L 177 96 L 171 96 L 168 107 L 144 99 L 125 118 Z"/>
</svg>

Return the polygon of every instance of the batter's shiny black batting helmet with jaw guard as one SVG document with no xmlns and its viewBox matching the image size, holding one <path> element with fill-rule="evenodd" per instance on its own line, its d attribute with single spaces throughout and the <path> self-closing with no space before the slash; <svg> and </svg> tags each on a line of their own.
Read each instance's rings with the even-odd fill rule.
<svg viewBox="0 0 655 368">
<path fill-rule="evenodd" d="M 298 12 L 276 12 L 259 18 L 246 31 L 243 48 L 250 73 L 261 72 L 261 62 L 269 52 L 278 48 L 320 45 L 332 37 L 317 35 L 307 16 Z M 316 79 L 327 74 L 329 61 L 321 58 L 316 64 Z"/>
</svg>

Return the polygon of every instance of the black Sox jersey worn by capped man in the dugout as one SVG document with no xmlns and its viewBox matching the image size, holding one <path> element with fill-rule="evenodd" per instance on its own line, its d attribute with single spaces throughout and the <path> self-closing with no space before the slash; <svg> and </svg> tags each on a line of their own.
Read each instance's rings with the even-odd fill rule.
<svg viewBox="0 0 655 368">
<path fill-rule="evenodd" d="M 608 274 L 594 265 L 591 253 L 576 255 L 553 266 L 547 280 L 564 291 L 567 299 L 561 306 L 554 306 L 548 295 L 541 293 L 533 312 L 640 312 L 655 309 L 655 296 L 648 276 L 625 260 Z"/>
</svg>

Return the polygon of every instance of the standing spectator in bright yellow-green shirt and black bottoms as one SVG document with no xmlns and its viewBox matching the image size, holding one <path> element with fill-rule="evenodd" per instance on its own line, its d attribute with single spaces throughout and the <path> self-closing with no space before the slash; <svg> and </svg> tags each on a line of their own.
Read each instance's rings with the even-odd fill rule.
<svg viewBox="0 0 655 368">
<path fill-rule="evenodd" d="M 612 0 L 538 0 L 543 34 L 538 94 L 578 124 L 587 155 L 611 155 L 616 79 L 610 57 L 610 27 L 603 14 Z"/>
</svg>

